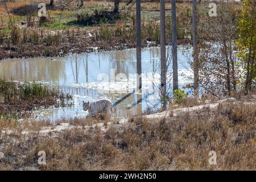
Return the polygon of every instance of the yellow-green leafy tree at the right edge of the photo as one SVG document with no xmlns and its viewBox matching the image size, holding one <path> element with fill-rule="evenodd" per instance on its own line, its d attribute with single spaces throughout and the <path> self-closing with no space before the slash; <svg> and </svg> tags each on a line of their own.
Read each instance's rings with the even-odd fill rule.
<svg viewBox="0 0 256 182">
<path fill-rule="evenodd" d="M 238 59 L 245 68 L 246 94 L 252 89 L 256 78 L 256 31 L 255 0 L 243 0 L 243 9 L 238 30 Z"/>
</svg>

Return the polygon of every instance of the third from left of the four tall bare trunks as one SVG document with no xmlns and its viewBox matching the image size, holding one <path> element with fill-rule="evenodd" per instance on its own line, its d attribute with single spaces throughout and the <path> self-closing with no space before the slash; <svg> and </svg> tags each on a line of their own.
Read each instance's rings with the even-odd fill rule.
<svg viewBox="0 0 256 182">
<path fill-rule="evenodd" d="M 172 69 L 174 90 L 179 89 L 177 74 L 177 23 L 176 23 L 176 0 L 171 0 L 172 11 Z"/>
</svg>

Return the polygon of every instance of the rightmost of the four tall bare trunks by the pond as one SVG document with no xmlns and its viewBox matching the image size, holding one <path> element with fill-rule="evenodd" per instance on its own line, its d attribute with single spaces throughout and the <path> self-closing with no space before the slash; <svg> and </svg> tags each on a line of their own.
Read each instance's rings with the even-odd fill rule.
<svg viewBox="0 0 256 182">
<path fill-rule="evenodd" d="M 197 17 L 196 17 L 196 0 L 192 0 L 192 23 L 193 23 L 193 71 L 194 71 L 194 95 L 198 97 L 199 92 L 199 63 L 197 55 Z"/>
</svg>

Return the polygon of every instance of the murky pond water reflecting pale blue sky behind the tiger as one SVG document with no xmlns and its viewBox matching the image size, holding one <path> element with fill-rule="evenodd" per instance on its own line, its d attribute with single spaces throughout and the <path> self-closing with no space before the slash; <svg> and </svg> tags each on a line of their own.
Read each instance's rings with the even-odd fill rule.
<svg viewBox="0 0 256 182">
<path fill-rule="evenodd" d="M 191 56 L 191 51 L 186 51 L 185 54 Z M 178 58 L 180 86 L 183 86 L 191 80 L 186 80 L 181 73 L 187 76 L 188 74 L 191 76 L 191 73 L 186 69 L 189 68 L 189 65 L 183 52 L 178 51 Z M 142 50 L 142 72 L 147 73 L 150 78 L 142 78 L 142 90 L 139 94 L 131 94 L 116 106 L 118 117 L 127 117 L 128 113 L 141 113 L 146 109 L 148 102 L 151 104 L 158 102 L 158 90 L 155 84 L 158 83 L 156 78 L 159 77 L 159 60 L 159 48 Z M 171 72 L 171 68 L 168 71 Z M 105 73 L 108 76 L 108 79 L 105 80 L 107 82 L 98 80 L 100 73 Z M 119 73 L 125 73 L 126 79 L 115 81 L 114 78 Z M 53 121 L 61 117 L 74 117 L 74 115 L 84 117 L 86 113 L 81 110 L 81 101 L 83 100 L 110 98 L 113 103 L 117 102 L 135 88 L 135 77 L 130 76 L 130 73 L 136 73 L 135 49 L 71 54 L 65 57 L 56 57 L 54 61 L 49 58 L 0 61 L 0 78 L 16 81 L 42 81 L 49 85 L 59 86 L 64 93 L 74 96 L 75 106 L 72 108 L 38 111 L 38 113 L 43 113 L 42 117 Z M 154 84 L 152 84 L 152 80 L 154 80 Z M 104 92 L 101 92 L 102 90 L 99 88 Z M 142 100 L 142 104 L 137 105 L 138 100 Z M 127 107 L 131 107 L 131 110 L 127 110 Z"/>
</svg>

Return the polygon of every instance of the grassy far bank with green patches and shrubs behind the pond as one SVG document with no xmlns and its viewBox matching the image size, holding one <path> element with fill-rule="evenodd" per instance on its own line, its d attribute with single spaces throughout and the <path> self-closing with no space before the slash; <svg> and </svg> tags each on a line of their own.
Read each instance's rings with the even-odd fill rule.
<svg viewBox="0 0 256 182">
<path fill-rule="evenodd" d="M 38 1 L 38 3 L 41 1 Z M 113 50 L 135 47 L 136 16 L 133 3 L 121 2 L 120 11 L 114 14 L 113 2 L 89 1 L 82 9 L 74 3 L 47 6 L 47 20 L 39 24 L 36 5 L 30 1 L 7 3 L 7 13 L 0 14 L 0 59 L 8 57 L 63 56 L 69 52 L 91 52 L 93 47 Z M 0 5 L 3 12 L 7 11 Z M 32 8 L 32 7 L 34 8 Z M 222 5 L 217 3 L 217 8 Z M 225 10 L 238 19 L 241 5 L 230 2 Z M 199 35 L 201 39 L 214 40 L 208 29 L 216 27 L 216 20 L 209 19 L 208 3 L 198 5 Z M 178 44 L 191 44 L 191 3 L 177 3 Z M 166 3 L 166 42 L 171 36 L 170 3 Z M 159 2 L 142 2 L 142 46 L 157 46 L 160 40 Z M 29 22 L 29 23 L 28 23 Z M 29 24 L 29 25 L 28 25 Z M 236 27 L 233 27 L 236 29 Z"/>
</svg>

